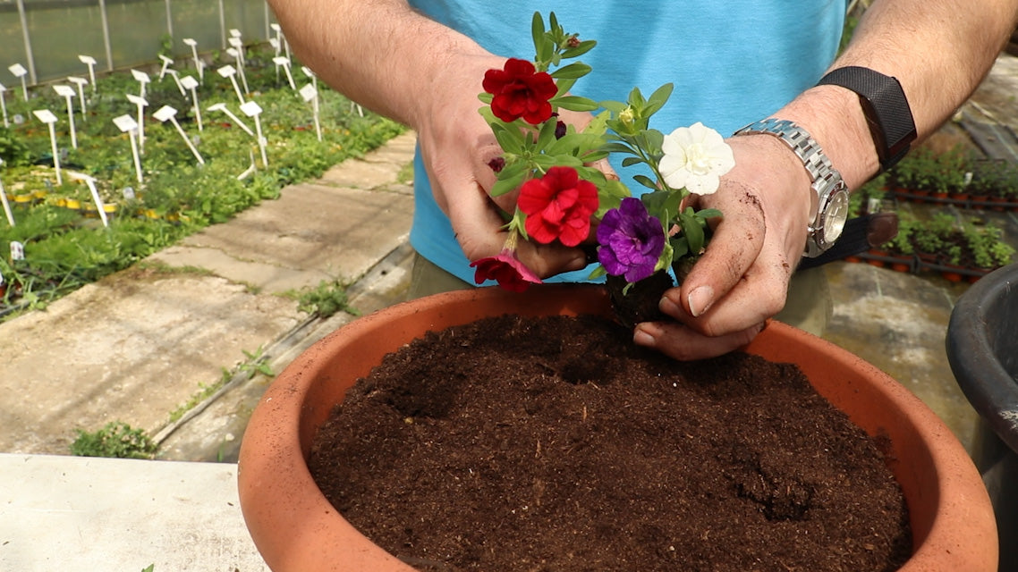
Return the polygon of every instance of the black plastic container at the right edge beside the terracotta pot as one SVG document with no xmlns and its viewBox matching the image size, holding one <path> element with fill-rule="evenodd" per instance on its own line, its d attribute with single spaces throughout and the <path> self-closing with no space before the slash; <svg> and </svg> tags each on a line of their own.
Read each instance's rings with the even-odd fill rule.
<svg viewBox="0 0 1018 572">
<path fill-rule="evenodd" d="M 997 515 L 1001 572 L 1018 572 L 1018 264 L 973 284 L 951 312 L 948 360 L 979 413 L 972 459 Z"/>
</svg>

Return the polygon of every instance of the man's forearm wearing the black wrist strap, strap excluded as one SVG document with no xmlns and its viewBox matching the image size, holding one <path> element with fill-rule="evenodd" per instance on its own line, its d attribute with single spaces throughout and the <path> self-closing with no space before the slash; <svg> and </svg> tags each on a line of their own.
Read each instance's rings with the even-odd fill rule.
<svg viewBox="0 0 1018 572">
<path fill-rule="evenodd" d="M 1016 19 L 1015 0 L 876 0 L 832 69 L 857 65 L 897 77 L 922 139 L 978 87 Z M 775 116 L 810 131 L 850 188 L 878 172 L 872 137 L 853 92 L 813 88 Z"/>
</svg>

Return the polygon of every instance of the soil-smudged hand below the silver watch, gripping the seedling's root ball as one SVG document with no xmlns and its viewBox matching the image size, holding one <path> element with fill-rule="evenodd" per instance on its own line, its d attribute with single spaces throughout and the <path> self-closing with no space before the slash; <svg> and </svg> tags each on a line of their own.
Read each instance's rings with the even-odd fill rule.
<svg viewBox="0 0 1018 572">
<path fill-rule="evenodd" d="M 706 251 L 661 309 L 675 322 L 639 324 L 637 344 L 677 359 L 700 359 L 749 343 L 785 305 L 802 255 L 810 209 L 809 177 L 770 135 L 728 140 L 735 168 L 698 208 L 724 213 Z M 693 195 L 695 196 L 695 195 Z"/>
</svg>

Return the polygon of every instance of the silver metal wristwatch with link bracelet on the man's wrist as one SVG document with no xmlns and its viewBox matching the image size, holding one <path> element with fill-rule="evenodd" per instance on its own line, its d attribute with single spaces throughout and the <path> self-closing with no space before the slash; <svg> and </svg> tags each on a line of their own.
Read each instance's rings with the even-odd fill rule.
<svg viewBox="0 0 1018 572">
<path fill-rule="evenodd" d="M 811 202 L 811 221 L 807 228 L 806 247 L 803 255 L 813 258 L 830 248 L 841 236 L 848 218 L 848 189 L 841 173 L 831 165 L 824 150 L 805 129 L 784 119 L 764 119 L 750 123 L 735 132 L 736 135 L 767 133 L 785 142 L 802 161 L 809 177 L 816 201 Z"/>
</svg>

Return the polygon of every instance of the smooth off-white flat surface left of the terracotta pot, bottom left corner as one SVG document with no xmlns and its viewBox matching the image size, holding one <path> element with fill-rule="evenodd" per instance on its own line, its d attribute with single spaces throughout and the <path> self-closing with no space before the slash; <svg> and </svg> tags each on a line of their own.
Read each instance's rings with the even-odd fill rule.
<svg viewBox="0 0 1018 572">
<path fill-rule="evenodd" d="M 237 467 L 0 454 L 0 570 L 261 572 Z"/>
</svg>

